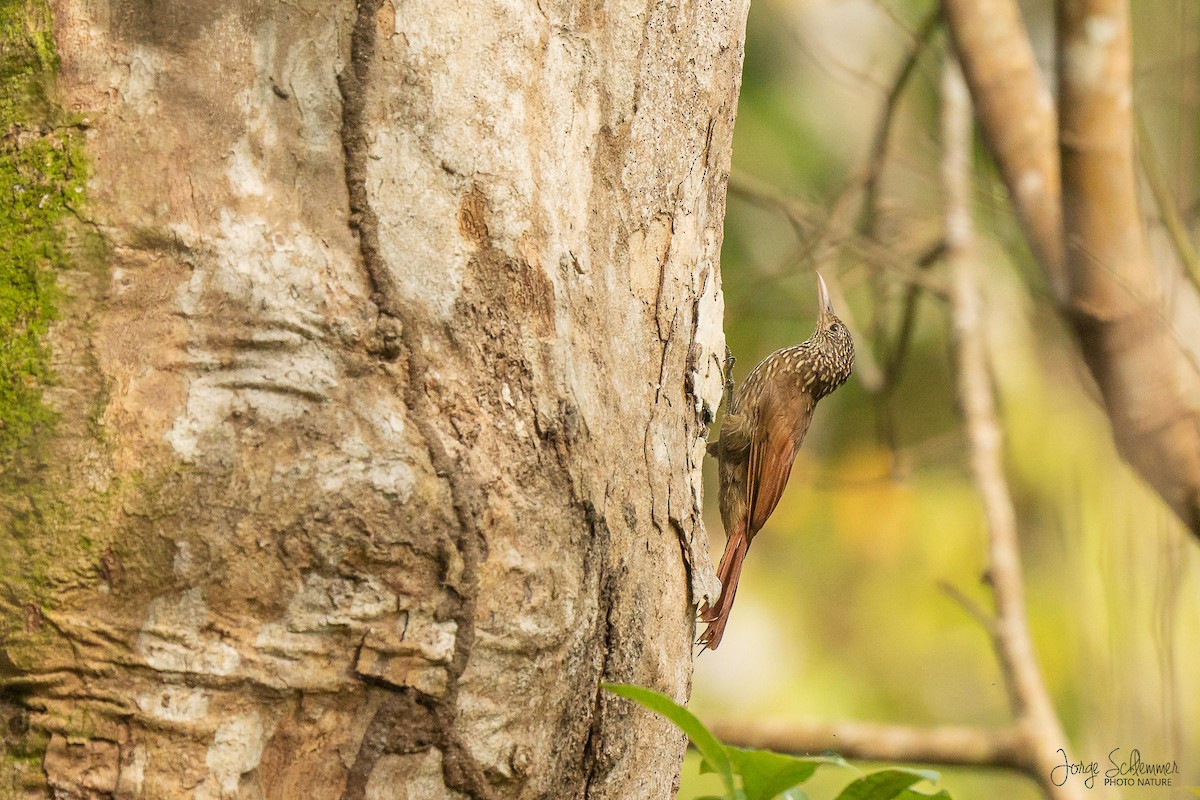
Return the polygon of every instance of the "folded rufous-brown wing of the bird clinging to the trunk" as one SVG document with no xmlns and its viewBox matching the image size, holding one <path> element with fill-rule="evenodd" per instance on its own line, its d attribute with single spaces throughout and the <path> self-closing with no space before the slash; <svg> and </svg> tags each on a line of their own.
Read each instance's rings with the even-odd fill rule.
<svg viewBox="0 0 1200 800">
<path fill-rule="evenodd" d="M 779 505 L 779 498 L 792 474 L 796 452 L 812 419 L 812 395 L 797 392 L 770 401 L 775 408 L 761 409 L 760 426 L 750 441 L 750 467 L 746 474 L 746 507 L 750 510 L 750 536 L 767 524 L 767 517 Z"/>
</svg>

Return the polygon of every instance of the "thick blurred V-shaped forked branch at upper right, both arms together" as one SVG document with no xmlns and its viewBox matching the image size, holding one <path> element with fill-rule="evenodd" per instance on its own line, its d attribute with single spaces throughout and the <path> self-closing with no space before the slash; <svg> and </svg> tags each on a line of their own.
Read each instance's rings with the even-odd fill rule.
<svg viewBox="0 0 1200 800">
<path fill-rule="evenodd" d="M 1200 295 L 1138 207 L 1123 1 L 1062 0 L 1058 109 L 1013 0 L 944 0 L 980 130 L 1122 457 L 1200 536 Z"/>
</svg>

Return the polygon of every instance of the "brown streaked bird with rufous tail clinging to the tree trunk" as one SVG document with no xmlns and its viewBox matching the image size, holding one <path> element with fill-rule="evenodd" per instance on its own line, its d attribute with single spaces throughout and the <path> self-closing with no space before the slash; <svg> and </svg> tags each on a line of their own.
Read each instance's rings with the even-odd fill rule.
<svg viewBox="0 0 1200 800">
<path fill-rule="evenodd" d="M 725 360 L 725 420 L 720 438 L 708 443 L 716 457 L 725 553 L 716 577 L 721 594 L 706 603 L 700 619 L 708 626 L 697 644 L 715 650 L 738 591 L 738 577 L 750 542 L 766 524 L 787 486 L 796 453 L 812 411 L 850 378 L 854 342 L 834 313 L 829 288 L 817 273 L 817 326 L 808 339 L 775 350 L 750 371 L 733 391 L 733 361 Z"/>
</svg>

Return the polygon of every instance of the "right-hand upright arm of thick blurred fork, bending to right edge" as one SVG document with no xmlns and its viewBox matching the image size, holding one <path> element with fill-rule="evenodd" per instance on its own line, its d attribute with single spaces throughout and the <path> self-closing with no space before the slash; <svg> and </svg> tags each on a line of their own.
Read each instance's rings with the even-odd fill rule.
<svg viewBox="0 0 1200 800">
<path fill-rule="evenodd" d="M 1129 38 L 1123 0 L 1060 2 L 1066 305 L 1118 450 L 1200 536 L 1200 369 L 1166 318 L 1138 207 Z"/>
</svg>

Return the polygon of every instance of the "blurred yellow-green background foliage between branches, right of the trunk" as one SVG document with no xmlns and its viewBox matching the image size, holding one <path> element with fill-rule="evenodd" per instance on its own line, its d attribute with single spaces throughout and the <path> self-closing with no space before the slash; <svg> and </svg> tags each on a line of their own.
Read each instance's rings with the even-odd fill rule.
<svg viewBox="0 0 1200 800">
<path fill-rule="evenodd" d="M 1200 4 L 1130 5 L 1134 102 L 1148 131 L 1140 146 L 1164 166 L 1195 235 Z M 733 182 L 772 187 L 811 218 L 793 225 L 761 197 L 730 192 L 722 275 L 736 377 L 811 332 L 814 269 L 836 277 L 859 377 L 818 408 L 787 492 L 750 549 L 725 640 L 696 664 L 690 708 L 704 720 L 1012 718 L 984 631 L 942 588 L 990 608 L 944 300 L 923 293 L 894 386 L 868 387 L 870 362 L 886 363 L 895 348 L 908 276 L 940 237 L 941 30 L 900 96 L 877 211 L 860 212 L 884 97 L 931 11 L 914 0 L 755 0 L 750 10 Z M 1051 74 L 1052 4 L 1028 1 L 1022 11 Z M 1114 747 L 1175 759 L 1175 788 L 1122 796 L 1192 796 L 1184 787 L 1200 784 L 1200 543 L 1116 456 L 1098 395 L 982 149 L 974 168 L 977 257 L 1030 624 L 1070 754 L 1099 762 L 1102 772 Z M 1165 252 L 1148 192 L 1142 205 L 1156 252 Z M 928 275 L 944 279 L 936 263 Z M 715 469 L 708 479 L 716 558 Z M 956 798 L 1040 796 L 1010 774 L 943 774 Z M 689 758 L 679 796 L 713 788 Z"/>
</svg>

